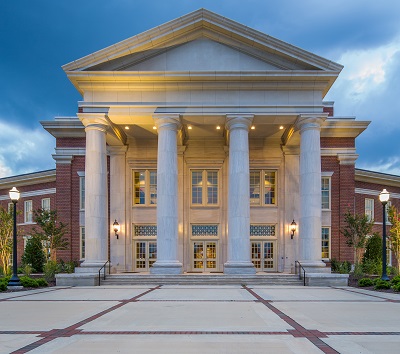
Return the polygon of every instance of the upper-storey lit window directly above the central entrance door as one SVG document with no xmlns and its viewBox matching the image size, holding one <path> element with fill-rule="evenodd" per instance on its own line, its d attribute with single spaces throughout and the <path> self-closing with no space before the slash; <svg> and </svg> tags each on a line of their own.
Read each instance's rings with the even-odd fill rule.
<svg viewBox="0 0 400 354">
<path fill-rule="evenodd" d="M 218 171 L 192 171 L 192 205 L 218 205 Z"/>
</svg>

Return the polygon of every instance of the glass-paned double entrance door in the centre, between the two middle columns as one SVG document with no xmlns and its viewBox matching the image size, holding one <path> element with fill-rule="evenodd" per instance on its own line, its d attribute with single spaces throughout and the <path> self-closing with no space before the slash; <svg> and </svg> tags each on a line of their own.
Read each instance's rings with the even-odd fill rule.
<svg viewBox="0 0 400 354">
<path fill-rule="evenodd" d="M 197 272 L 217 271 L 217 241 L 192 243 L 192 269 Z"/>
</svg>

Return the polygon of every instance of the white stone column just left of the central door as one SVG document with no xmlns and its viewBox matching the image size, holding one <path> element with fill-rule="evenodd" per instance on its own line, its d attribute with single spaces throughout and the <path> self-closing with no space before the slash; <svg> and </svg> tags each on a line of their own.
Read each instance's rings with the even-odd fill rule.
<svg viewBox="0 0 400 354">
<path fill-rule="evenodd" d="M 178 114 L 154 115 L 158 132 L 157 155 L 157 261 L 152 274 L 180 274 L 178 261 Z"/>
</svg>

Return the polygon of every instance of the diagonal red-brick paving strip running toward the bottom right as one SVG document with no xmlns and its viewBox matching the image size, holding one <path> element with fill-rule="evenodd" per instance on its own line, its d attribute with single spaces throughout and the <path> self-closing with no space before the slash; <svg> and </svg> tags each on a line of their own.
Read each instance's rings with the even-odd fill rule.
<svg viewBox="0 0 400 354">
<path fill-rule="evenodd" d="M 326 335 L 318 330 L 308 330 L 296 322 L 293 318 L 289 317 L 275 306 L 272 305 L 271 301 L 264 300 L 260 295 L 258 295 L 254 290 L 247 288 L 243 285 L 243 289 L 246 289 L 251 295 L 260 302 L 268 307 L 273 313 L 275 313 L 279 318 L 285 321 L 288 325 L 294 328 L 294 330 L 288 330 L 289 333 L 293 334 L 294 337 L 303 337 L 308 339 L 312 344 L 314 344 L 318 349 L 320 349 L 325 354 L 338 353 L 335 349 L 327 345 L 321 338 L 325 338 Z"/>
</svg>

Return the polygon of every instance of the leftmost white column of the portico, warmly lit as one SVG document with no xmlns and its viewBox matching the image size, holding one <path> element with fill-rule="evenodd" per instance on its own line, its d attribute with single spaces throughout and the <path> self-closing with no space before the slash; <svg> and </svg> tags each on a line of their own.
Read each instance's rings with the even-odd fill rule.
<svg viewBox="0 0 400 354">
<path fill-rule="evenodd" d="M 78 113 L 85 126 L 85 261 L 81 267 L 95 271 L 108 260 L 108 188 L 104 113 Z M 82 269 L 85 271 L 85 269 Z"/>
</svg>

